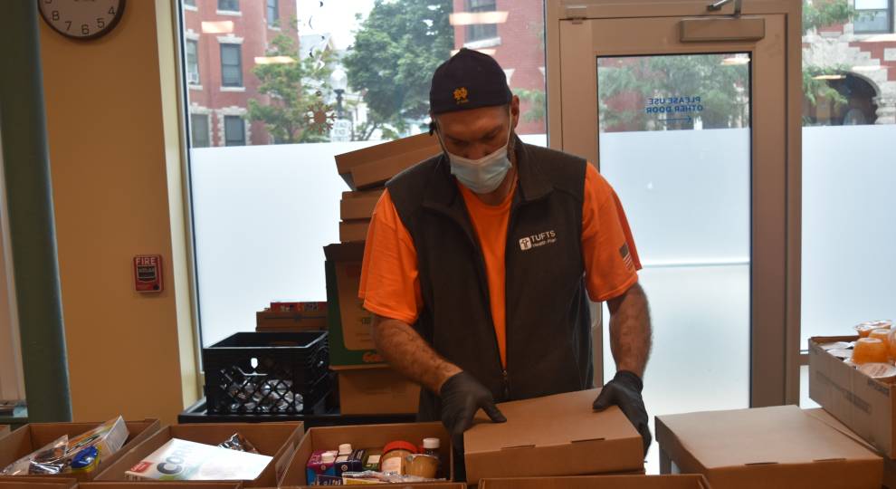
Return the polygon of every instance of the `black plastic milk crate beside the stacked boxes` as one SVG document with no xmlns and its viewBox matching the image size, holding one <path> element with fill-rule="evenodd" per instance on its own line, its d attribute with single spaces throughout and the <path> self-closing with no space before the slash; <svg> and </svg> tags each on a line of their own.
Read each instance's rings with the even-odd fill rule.
<svg viewBox="0 0 896 489">
<path fill-rule="evenodd" d="M 327 331 L 236 333 L 202 361 L 210 414 L 312 413 L 331 384 Z"/>
</svg>

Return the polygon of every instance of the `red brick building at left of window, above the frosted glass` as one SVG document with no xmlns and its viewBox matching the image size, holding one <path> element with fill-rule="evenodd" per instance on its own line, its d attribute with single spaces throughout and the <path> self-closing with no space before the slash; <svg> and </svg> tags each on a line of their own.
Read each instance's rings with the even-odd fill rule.
<svg viewBox="0 0 896 489">
<path fill-rule="evenodd" d="M 187 97 L 191 146 L 270 144 L 259 121 L 245 119 L 249 101 L 269 103 L 252 74 L 268 43 L 295 29 L 278 25 L 296 18 L 295 0 L 183 0 Z"/>
</svg>

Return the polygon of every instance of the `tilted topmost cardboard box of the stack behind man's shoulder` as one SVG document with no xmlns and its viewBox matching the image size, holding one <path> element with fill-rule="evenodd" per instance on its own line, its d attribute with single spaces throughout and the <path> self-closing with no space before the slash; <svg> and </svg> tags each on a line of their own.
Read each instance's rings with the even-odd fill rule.
<svg viewBox="0 0 896 489">
<path fill-rule="evenodd" d="M 337 155 L 336 168 L 352 190 L 377 187 L 405 168 L 441 152 L 438 138 L 418 134 Z"/>
</svg>

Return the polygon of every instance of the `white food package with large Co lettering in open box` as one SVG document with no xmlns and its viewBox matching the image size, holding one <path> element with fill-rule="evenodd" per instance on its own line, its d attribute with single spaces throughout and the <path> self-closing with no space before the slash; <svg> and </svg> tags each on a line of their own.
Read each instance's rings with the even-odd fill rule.
<svg viewBox="0 0 896 489">
<path fill-rule="evenodd" d="M 130 480 L 251 481 L 272 457 L 172 438 L 131 467 Z"/>
</svg>

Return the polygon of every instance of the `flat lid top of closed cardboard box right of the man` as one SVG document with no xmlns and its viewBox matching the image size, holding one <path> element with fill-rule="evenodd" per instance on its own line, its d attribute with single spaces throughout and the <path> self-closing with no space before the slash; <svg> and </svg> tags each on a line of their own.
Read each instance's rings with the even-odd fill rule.
<svg viewBox="0 0 896 489">
<path fill-rule="evenodd" d="M 669 437 L 676 438 L 680 448 L 708 471 L 747 465 L 880 460 L 872 451 L 805 415 L 796 406 L 691 413 L 656 419 L 657 440 L 664 450 L 669 450 L 672 460 L 678 461 L 681 456 L 673 453 L 675 444 L 668 443 Z"/>
</svg>

